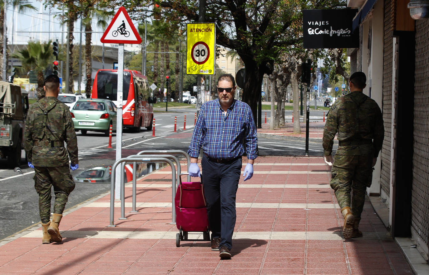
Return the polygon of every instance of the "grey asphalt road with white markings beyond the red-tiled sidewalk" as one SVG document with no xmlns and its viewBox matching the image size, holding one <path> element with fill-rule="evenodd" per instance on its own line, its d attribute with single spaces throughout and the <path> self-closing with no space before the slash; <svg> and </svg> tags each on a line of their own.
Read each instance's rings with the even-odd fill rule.
<svg viewBox="0 0 429 275">
<path fill-rule="evenodd" d="M 183 150 L 187 151 L 193 132 L 196 110 L 193 108 L 169 108 L 169 112 L 155 112 L 155 136 L 152 131 L 142 127 L 140 133 L 124 130 L 122 136 L 122 157 L 136 154 L 142 150 Z M 290 114 L 289 114 L 290 112 Z M 265 111 L 263 112 L 263 117 Z M 286 111 L 286 116 L 292 111 Z M 184 116 L 187 126 L 184 129 Z M 270 112 L 267 112 L 269 117 Z M 322 111 L 312 111 L 310 117 L 323 119 Z M 174 119 L 177 117 L 177 132 L 174 130 Z M 312 121 L 319 118 L 311 119 Z M 107 148 L 109 137 L 103 133 L 88 131 L 86 136 L 77 132 L 79 146 L 79 169 L 72 171 L 76 176 L 87 169 L 97 166 L 108 166 L 115 162 L 116 136 L 113 133 L 112 147 Z M 287 141 L 279 139 L 258 139 L 260 156 L 295 156 L 305 154 L 305 141 Z M 310 143 L 309 154 L 322 156 L 321 144 Z M 38 222 L 38 195 L 34 189 L 34 170 L 27 166 L 22 152 L 21 171 L 7 169 L 6 160 L 0 160 L 0 240 L 28 228 Z M 140 167 L 140 175 L 147 173 L 147 167 Z M 79 183 L 69 196 L 66 210 L 97 195 L 110 190 L 110 183 Z M 52 192 L 53 194 L 53 192 Z M 53 202 L 54 198 L 52 198 Z M 109 221 L 106 220 L 106 225 Z"/>
</svg>

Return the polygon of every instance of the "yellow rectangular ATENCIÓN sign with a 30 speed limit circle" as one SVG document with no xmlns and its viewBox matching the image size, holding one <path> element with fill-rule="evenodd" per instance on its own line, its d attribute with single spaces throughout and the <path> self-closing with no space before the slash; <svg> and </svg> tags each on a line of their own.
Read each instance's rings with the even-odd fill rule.
<svg viewBox="0 0 429 275">
<path fill-rule="evenodd" d="M 215 74 L 215 23 L 187 24 L 186 74 Z"/>
</svg>

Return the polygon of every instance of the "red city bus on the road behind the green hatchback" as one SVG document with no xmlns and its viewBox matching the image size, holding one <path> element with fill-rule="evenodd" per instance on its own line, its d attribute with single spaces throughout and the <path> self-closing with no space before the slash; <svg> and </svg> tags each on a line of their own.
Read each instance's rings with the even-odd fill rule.
<svg viewBox="0 0 429 275">
<path fill-rule="evenodd" d="M 156 98 L 151 97 L 148 79 L 139 71 L 124 70 L 122 86 L 122 122 L 124 128 L 131 128 L 135 132 L 140 127 L 152 130 L 154 111 L 152 103 Z M 91 98 L 106 98 L 118 106 L 118 71 L 98 70 L 92 86 Z"/>
</svg>

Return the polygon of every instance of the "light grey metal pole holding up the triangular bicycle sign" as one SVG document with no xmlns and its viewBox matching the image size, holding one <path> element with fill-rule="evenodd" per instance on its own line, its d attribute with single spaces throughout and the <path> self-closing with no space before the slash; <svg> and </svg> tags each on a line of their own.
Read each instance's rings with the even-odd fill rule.
<svg viewBox="0 0 429 275">
<path fill-rule="evenodd" d="M 118 106 L 116 113 L 116 160 L 121 159 L 122 155 L 122 85 L 124 82 L 124 44 L 118 45 Z M 121 166 L 116 167 L 115 171 L 115 199 L 121 195 Z"/>
</svg>

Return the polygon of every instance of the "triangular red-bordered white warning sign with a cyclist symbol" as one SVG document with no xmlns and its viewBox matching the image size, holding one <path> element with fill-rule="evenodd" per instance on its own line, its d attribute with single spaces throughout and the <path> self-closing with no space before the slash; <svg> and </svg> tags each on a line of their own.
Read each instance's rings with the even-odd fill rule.
<svg viewBox="0 0 429 275">
<path fill-rule="evenodd" d="M 102 43 L 140 44 L 142 38 L 125 8 L 120 7 L 100 41 Z"/>
</svg>

